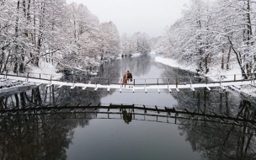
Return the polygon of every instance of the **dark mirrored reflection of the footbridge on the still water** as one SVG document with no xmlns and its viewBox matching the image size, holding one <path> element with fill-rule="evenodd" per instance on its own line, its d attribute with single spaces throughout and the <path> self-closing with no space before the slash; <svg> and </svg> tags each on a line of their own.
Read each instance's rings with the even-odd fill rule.
<svg viewBox="0 0 256 160">
<path fill-rule="evenodd" d="M 2 109 L 0 110 L 0 117 L 6 116 L 26 116 L 26 115 L 59 115 L 60 119 L 65 119 L 69 115 L 68 119 L 124 119 L 124 110 L 127 110 L 128 114 L 132 115 L 132 120 L 146 120 L 146 121 L 156 121 L 169 124 L 177 124 L 179 120 L 190 120 L 190 121 L 202 121 L 211 122 L 216 124 L 225 125 L 238 125 L 243 126 L 248 124 L 248 126 L 255 126 L 256 120 L 250 117 L 243 117 L 238 113 L 237 116 L 227 115 L 227 114 L 216 114 L 211 111 L 210 113 L 205 113 L 200 110 L 199 112 L 192 112 L 189 109 L 175 109 L 175 108 L 161 108 L 155 106 L 147 107 L 145 105 L 136 106 L 134 104 L 124 105 L 124 104 L 109 104 L 109 105 L 80 105 L 65 106 L 51 105 L 47 104 L 42 106 L 31 105 L 25 108 L 19 109 Z M 71 115 L 72 114 L 72 115 Z M 76 116 L 79 115 L 79 116 Z M 95 117 L 87 116 L 95 115 Z M 104 115 L 104 116 L 99 116 Z M 56 119 L 56 116 L 55 116 Z"/>
</svg>

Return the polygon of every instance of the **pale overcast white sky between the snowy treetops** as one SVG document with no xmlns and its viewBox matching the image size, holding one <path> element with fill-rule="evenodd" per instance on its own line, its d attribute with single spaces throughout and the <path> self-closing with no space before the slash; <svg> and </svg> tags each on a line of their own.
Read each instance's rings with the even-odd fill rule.
<svg viewBox="0 0 256 160">
<path fill-rule="evenodd" d="M 67 0 L 83 3 L 99 21 L 112 21 L 120 35 L 144 32 L 151 37 L 163 35 L 166 26 L 181 17 L 190 0 Z"/>
</svg>

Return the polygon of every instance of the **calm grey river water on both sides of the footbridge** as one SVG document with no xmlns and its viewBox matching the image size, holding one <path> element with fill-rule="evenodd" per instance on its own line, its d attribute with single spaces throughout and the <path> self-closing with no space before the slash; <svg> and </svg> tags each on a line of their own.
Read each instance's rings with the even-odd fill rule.
<svg viewBox="0 0 256 160">
<path fill-rule="evenodd" d="M 120 79 L 182 77 L 192 73 L 166 67 L 153 56 L 105 63 L 100 77 Z M 115 81 L 115 80 L 113 80 Z M 194 81 L 200 81 L 194 80 Z M 19 88 L 1 93 L 2 159 L 255 159 L 255 100 L 219 88 L 148 90 L 132 93 L 82 88 Z M 135 104 L 143 108 L 187 109 L 175 115 L 143 109 L 72 109 L 60 106 Z M 144 105 L 144 106 L 143 106 Z M 19 112 L 4 109 L 23 109 Z M 37 107 L 38 109 L 35 109 Z M 56 107 L 56 108 L 51 108 Z M 29 109 L 30 108 L 30 109 Z M 34 108 L 34 109 L 32 109 Z M 126 111 L 126 112 L 125 112 Z M 205 114 L 205 115 L 202 115 Z M 211 117 L 206 116 L 211 115 Z M 131 116 L 131 120 L 125 119 Z M 175 118 L 176 117 L 176 118 Z M 128 123 L 129 122 L 129 123 Z"/>
</svg>

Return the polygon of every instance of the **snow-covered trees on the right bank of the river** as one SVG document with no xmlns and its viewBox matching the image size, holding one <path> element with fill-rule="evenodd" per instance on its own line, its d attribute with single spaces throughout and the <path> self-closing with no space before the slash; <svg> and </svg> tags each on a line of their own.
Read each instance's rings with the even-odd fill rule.
<svg viewBox="0 0 256 160">
<path fill-rule="evenodd" d="M 254 0 L 191 0 L 153 48 L 205 73 L 239 65 L 247 79 L 256 61 L 255 5 Z"/>
</svg>

